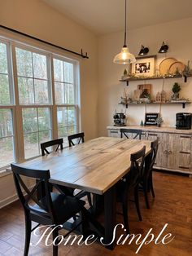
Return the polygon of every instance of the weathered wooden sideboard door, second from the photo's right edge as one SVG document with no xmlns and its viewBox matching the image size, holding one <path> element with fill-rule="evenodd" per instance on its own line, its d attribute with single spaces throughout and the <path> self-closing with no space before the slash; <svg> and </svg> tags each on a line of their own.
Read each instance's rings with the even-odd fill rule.
<svg viewBox="0 0 192 256">
<path fill-rule="evenodd" d="M 179 135 L 168 135 L 168 169 L 178 170 L 179 165 Z"/>
</svg>

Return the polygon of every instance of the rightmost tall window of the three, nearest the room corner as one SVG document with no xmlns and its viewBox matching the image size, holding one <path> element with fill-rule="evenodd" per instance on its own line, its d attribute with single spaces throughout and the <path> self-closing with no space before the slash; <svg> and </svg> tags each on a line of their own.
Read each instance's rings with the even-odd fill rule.
<svg viewBox="0 0 192 256">
<path fill-rule="evenodd" d="M 59 137 L 68 144 L 68 135 L 76 133 L 76 73 L 75 65 L 54 58 L 55 104 Z"/>
</svg>

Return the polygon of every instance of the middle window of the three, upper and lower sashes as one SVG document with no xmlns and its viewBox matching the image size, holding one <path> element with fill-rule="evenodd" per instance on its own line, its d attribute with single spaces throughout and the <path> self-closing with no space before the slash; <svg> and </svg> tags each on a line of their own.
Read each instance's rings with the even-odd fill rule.
<svg viewBox="0 0 192 256">
<path fill-rule="evenodd" d="M 19 100 L 22 105 L 24 130 L 24 157 L 41 154 L 40 143 L 52 138 L 50 108 L 38 108 L 50 104 L 50 79 L 46 55 L 15 48 Z M 28 108 L 30 105 L 34 108 Z"/>
</svg>

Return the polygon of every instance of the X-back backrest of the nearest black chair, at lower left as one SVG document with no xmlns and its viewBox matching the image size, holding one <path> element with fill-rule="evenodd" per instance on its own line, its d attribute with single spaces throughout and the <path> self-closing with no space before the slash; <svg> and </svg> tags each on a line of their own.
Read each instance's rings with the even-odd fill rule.
<svg viewBox="0 0 192 256">
<path fill-rule="evenodd" d="M 35 215 L 37 218 L 40 218 L 40 216 L 41 218 L 50 218 L 50 220 L 55 222 L 56 217 L 53 210 L 53 202 L 50 196 L 49 186 L 50 170 L 32 170 L 15 164 L 11 164 L 11 170 L 16 192 L 23 205 L 25 214 L 33 214 L 33 216 Z M 28 188 L 28 184 L 26 184 L 26 179 L 24 181 L 24 177 L 34 179 L 33 188 Z M 43 184 L 46 193 L 43 204 L 38 200 L 37 195 L 39 188 L 41 188 L 41 184 Z M 34 203 L 36 203 L 38 207 L 34 207 Z"/>
</svg>

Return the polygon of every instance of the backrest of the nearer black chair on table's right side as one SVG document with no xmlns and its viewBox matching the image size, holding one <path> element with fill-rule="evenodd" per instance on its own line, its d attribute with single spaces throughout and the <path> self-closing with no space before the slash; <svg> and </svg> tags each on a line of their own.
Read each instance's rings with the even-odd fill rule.
<svg viewBox="0 0 192 256">
<path fill-rule="evenodd" d="M 146 146 L 141 150 L 131 154 L 131 169 L 126 174 L 125 179 L 127 182 L 127 190 L 135 188 L 141 180 L 142 170 L 145 161 Z"/>
</svg>

